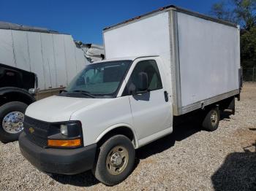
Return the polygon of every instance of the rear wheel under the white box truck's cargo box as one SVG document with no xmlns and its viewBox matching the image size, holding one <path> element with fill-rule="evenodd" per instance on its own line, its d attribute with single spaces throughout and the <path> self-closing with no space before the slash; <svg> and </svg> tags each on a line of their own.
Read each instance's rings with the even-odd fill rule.
<svg viewBox="0 0 256 191">
<path fill-rule="evenodd" d="M 219 108 L 211 109 L 207 114 L 206 117 L 203 119 L 203 128 L 208 131 L 217 130 L 219 127 Z"/>
</svg>

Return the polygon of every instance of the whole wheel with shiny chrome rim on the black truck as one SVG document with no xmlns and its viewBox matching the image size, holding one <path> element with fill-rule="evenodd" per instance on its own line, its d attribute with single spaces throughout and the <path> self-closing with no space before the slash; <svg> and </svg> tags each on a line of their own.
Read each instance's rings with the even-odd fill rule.
<svg viewBox="0 0 256 191">
<path fill-rule="evenodd" d="M 28 105 L 12 101 L 0 106 L 0 141 L 17 141 L 23 130 L 24 113 Z"/>
</svg>

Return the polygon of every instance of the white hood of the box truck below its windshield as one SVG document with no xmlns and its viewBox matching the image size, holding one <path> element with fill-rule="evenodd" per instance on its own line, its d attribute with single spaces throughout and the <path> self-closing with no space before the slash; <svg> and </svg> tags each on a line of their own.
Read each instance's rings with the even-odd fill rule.
<svg viewBox="0 0 256 191">
<path fill-rule="evenodd" d="M 46 122 L 69 121 L 73 112 L 106 101 L 104 98 L 51 96 L 29 105 L 26 115 Z"/>
</svg>

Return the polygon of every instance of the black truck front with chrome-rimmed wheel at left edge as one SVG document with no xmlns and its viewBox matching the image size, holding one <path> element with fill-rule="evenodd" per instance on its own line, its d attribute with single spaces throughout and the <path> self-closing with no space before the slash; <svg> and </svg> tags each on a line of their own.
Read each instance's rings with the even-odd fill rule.
<svg viewBox="0 0 256 191">
<path fill-rule="evenodd" d="M 0 141 L 17 141 L 27 106 L 35 101 L 37 75 L 0 63 Z"/>
</svg>

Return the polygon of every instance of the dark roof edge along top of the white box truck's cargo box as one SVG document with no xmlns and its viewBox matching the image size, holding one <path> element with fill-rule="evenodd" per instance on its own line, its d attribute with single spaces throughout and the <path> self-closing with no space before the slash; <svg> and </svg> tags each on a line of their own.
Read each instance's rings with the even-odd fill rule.
<svg viewBox="0 0 256 191">
<path fill-rule="evenodd" d="M 230 22 L 225 21 L 225 20 L 220 20 L 220 19 L 217 19 L 217 18 L 214 18 L 214 17 L 210 17 L 208 15 L 203 15 L 199 12 L 193 12 L 193 11 L 190 11 L 188 9 L 183 9 L 181 7 L 177 7 L 175 5 L 169 5 L 169 6 L 166 6 L 166 7 L 161 7 L 157 10 L 152 11 L 152 12 L 148 12 L 144 15 L 139 15 L 138 17 L 133 17 L 132 19 L 125 20 L 124 22 L 118 23 L 116 25 L 106 27 L 106 28 L 103 29 L 103 31 L 108 31 L 108 30 L 111 30 L 113 28 L 118 28 L 120 26 L 125 26 L 128 23 L 133 23 L 136 20 L 140 20 L 140 19 L 143 19 L 145 17 L 149 17 L 151 15 L 158 14 L 159 12 L 165 12 L 168 9 L 173 9 L 173 10 L 176 10 L 177 12 L 183 12 L 187 15 L 192 15 L 194 17 L 200 17 L 200 18 L 205 19 L 205 20 L 211 20 L 211 21 L 216 22 L 216 23 L 221 23 L 221 24 L 226 25 L 226 26 L 233 26 L 233 27 L 237 28 L 237 25 L 235 23 L 230 23 Z"/>
</svg>

